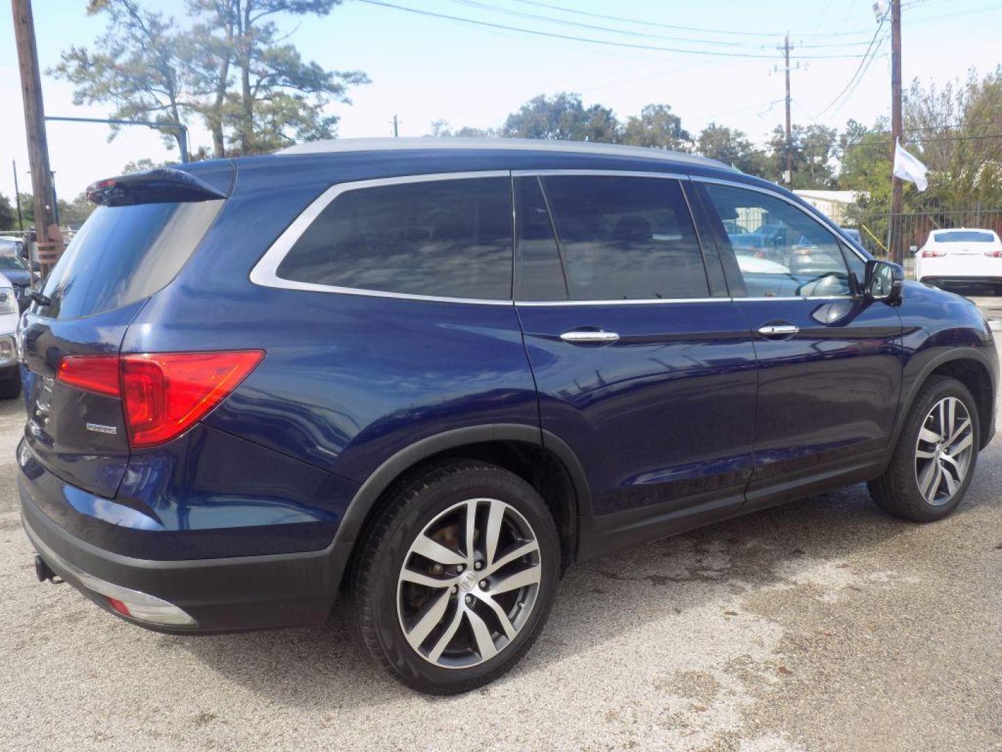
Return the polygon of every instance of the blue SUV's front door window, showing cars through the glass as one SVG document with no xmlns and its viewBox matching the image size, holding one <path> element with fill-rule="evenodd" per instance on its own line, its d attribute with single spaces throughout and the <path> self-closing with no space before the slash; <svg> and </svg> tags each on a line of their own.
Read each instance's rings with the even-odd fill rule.
<svg viewBox="0 0 1002 752">
<path fill-rule="evenodd" d="M 852 293 L 842 244 L 806 212 L 758 191 L 705 187 L 749 297 Z"/>
</svg>

